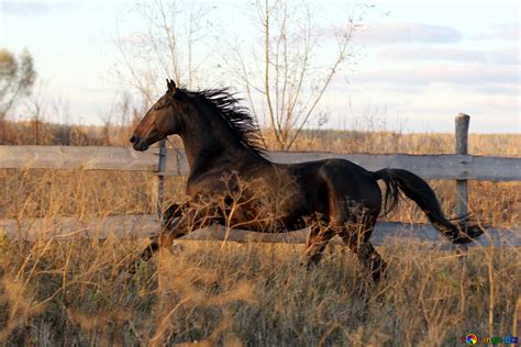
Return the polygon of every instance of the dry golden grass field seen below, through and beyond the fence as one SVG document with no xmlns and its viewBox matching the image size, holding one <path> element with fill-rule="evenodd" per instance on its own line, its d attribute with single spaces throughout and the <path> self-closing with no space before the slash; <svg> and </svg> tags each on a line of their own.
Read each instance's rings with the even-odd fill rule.
<svg viewBox="0 0 521 347">
<path fill-rule="evenodd" d="M 328 136 L 332 136 L 331 141 Z M 269 143 L 269 142 L 268 142 Z M 473 135 L 469 152 L 521 156 L 520 135 Z M 295 149 L 453 153 L 448 134 L 306 134 Z M 453 181 L 430 181 L 451 214 Z M 470 182 L 469 204 L 494 226 L 519 227 L 519 182 Z M 168 201 L 184 180 L 167 180 Z M 154 213 L 146 172 L 0 171 L 0 217 Z M 424 221 L 411 203 L 391 220 Z M 303 245 L 184 243 L 136 275 L 123 267 L 144 239 L 25 243 L 0 238 L 4 345 L 464 345 L 462 336 L 519 336 L 521 250 L 456 254 L 390 245 L 389 279 L 368 282 L 356 258 L 329 247 L 306 271 Z"/>
</svg>

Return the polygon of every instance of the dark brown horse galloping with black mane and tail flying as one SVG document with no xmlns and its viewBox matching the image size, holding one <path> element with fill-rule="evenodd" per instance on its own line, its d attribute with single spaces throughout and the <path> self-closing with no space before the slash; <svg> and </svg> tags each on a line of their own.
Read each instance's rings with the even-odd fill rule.
<svg viewBox="0 0 521 347">
<path fill-rule="evenodd" d="M 130 141 L 134 149 L 146 150 L 168 135 L 179 135 L 190 166 L 190 201 L 167 211 L 169 223 L 143 251 L 143 260 L 159 246 L 169 247 L 193 227 L 211 223 L 270 233 L 309 226 L 308 265 L 317 264 L 328 242 L 340 235 L 378 280 L 386 264 L 369 243 L 383 203 L 378 180 L 387 186 L 386 213 L 402 191 L 453 243 L 481 234 L 466 221 L 451 223 L 429 184 L 407 170 L 370 172 L 343 159 L 271 163 L 263 156 L 253 117 L 225 89 L 188 91 L 171 80 L 167 86 Z"/>
</svg>

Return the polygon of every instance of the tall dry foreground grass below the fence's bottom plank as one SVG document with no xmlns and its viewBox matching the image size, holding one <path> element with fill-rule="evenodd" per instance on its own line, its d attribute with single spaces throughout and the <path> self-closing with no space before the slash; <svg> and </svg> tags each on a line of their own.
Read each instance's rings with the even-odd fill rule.
<svg viewBox="0 0 521 347">
<path fill-rule="evenodd" d="M 340 248 L 306 271 L 303 246 L 195 243 L 122 278 L 141 244 L 5 245 L 0 337 L 48 346 L 433 346 L 456 345 L 468 333 L 519 332 L 516 249 L 470 251 L 462 280 L 452 254 L 386 248 L 389 280 L 373 286 Z"/>
</svg>

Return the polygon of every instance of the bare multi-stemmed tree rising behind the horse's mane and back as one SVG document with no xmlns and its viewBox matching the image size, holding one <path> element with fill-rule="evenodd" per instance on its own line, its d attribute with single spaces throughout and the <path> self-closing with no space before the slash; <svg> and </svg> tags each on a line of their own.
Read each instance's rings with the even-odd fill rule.
<svg viewBox="0 0 521 347">
<path fill-rule="evenodd" d="M 318 105 L 351 56 L 353 35 L 361 27 L 362 16 L 355 20 L 354 11 L 337 26 L 320 25 L 317 11 L 302 1 L 256 0 L 262 52 L 247 51 L 252 45 L 239 40 L 232 44 L 229 63 L 244 83 L 253 112 L 269 122 L 284 150 L 310 120 L 324 116 Z"/>
</svg>

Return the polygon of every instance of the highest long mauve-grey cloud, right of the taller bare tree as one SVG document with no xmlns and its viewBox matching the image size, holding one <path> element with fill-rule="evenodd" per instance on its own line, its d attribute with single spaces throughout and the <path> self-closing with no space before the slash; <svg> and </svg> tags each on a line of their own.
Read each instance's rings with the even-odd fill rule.
<svg viewBox="0 0 521 347">
<path fill-rule="evenodd" d="M 462 40 L 455 29 L 422 23 L 380 23 L 369 25 L 356 40 L 363 44 L 454 43 Z"/>
</svg>

